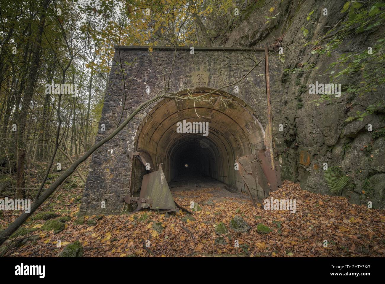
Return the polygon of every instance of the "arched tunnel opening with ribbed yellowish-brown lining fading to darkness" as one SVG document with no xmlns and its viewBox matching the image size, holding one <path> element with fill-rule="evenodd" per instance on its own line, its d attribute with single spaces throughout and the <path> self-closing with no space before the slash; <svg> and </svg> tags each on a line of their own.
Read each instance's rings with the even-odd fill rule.
<svg viewBox="0 0 385 284">
<path fill-rule="evenodd" d="M 181 123 L 183 131 L 177 129 Z M 207 131 L 200 131 L 199 123 L 207 125 Z M 237 158 L 251 157 L 265 149 L 264 129 L 255 112 L 243 100 L 218 92 L 204 95 L 204 100 L 162 100 L 139 126 L 136 145 L 137 150 L 148 153 L 155 168 L 162 164 L 168 183 L 193 177 L 202 182 L 202 178 L 209 177 L 238 193 L 246 188 L 234 165 Z M 146 173 L 136 159 L 132 167 L 134 194 L 140 191 Z M 254 184 L 253 195 L 263 198 L 264 189 Z"/>
</svg>

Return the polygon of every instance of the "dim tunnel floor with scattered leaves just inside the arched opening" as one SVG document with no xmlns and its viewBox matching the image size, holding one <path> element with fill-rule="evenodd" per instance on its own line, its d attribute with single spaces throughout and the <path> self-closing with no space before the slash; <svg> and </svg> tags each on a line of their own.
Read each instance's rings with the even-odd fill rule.
<svg viewBox="0 0 385 284">
<path fill-rule="evenodd" d="M 176 200 L 188 198 L 189 201 L 209 205 L 213 201 L 224 201 L 231 199 L 239 203 L 249 201 L 245 193 L 233 193 L 228 191 L 227 185 L 212 177 L 200 174 L 182 174 L 176 176 L 170 183 L 169 188 Z M 177 201 L 178 202 L 178 201 Z M 189 204 L 181 204 L 189 206 Z"/>
</svg>

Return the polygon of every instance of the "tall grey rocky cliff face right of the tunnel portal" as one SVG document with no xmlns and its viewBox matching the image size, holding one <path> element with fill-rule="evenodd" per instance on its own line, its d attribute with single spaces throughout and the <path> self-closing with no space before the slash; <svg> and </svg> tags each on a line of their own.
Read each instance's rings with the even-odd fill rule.
<svg viewBox="0 0 385 284">
<path fill-rule="evenodd" d="M 352 75 L 339 82 L 340 98 L 318 105 L 313 100 L 321 95 L 309 93 L 311 83 L 334 83 L 326 69 L 341 54 L 365 51 L 383 37 L 383 26 L 374 32 L 347 37 L 329 56 L 313 54 L 312 47 L 304 46 L 305 42 L 328 36 L 326 32 L 330 27 L 343 19 L 341 10 L 345 2 L 284 0 L 265 4 L 264 1 L 249 1 L 240 9 L 241 13 L 247 13 L 234 22 L 231 32 L 216 39 L 216 45 L 260 47 L 269 42 L 275 48 L 283 47 L 285 63 L 278 60 L 276 52 L 272 56 L 277 57 L 277 66 L 271 66 L 280 69 L 280 81 L 271 82 L 272 94 L 275 94 L 271 103 L 283 179 L 298 181 L 301 188 L 312 192 L 332 194 L 324 176 L 324 163 L 327 163 L 328 167 L 339 167 L 342 175 L 348 176 L 347 184 L 338 194 L 352 203 L 367 205 L 372 201 L 373 208 L 385 208 L 385 137 L 378 137 L 381 136 L 378 130 L 385 126 L 385 115 L 374 112 L 362 121 L 345 122 L 357 111 L 363 112 L 368 105 L 384 100 L 383 86 L 375 93 L 352 96 L 346 92 L 347 86 L 359 84 L 361 79 L 359 75 Z M 271 8 L 274 8 L 272 12 Z M 323 13 L 324 8 L 327 15 Z M 304 36 L 300 27 L 311 11 L 311 21 L 306 26 L 308 34 Z M 266 19 L 266 15 L 275 18 Z M 340 66 L 336 65 L 331 70 L 337 72 L 338 68 Z M 283 131 L 279 129 L 280 124 Z M 372 131 L 368 131 L 369 124 Z M 377 135 L 373 135 L 374 132 Z"/>
</svg>

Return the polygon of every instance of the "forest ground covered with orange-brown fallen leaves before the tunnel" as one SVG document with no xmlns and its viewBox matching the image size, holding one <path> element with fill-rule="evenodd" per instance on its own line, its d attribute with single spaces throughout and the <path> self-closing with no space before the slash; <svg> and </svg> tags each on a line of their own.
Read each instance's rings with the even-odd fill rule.
<svg viewBox="0 0 385 284">
<path fill-rule="evenodd" d="M 352 205 L 342 197 L 310 193 L 288 181 L 271 196 L 296 199 L 296 213 L 254 208 L 247 196 L 227 194 L 224 190 L 173 188 L 178 204 L 189 207 L 194 201 L 197 211 L 191 215 L 184 211 L 165 214 L 142 210 L 134 214 L 82 218 L 77 217 L 79 204 L 64 206 L 65 209 L 58 207 L 56 211 L 51 208 L 50 211 L 62 217 L 70 217 L 62 220 L 62 231 L 56 234 L 53 230 L 44 231 L 42 226 L 47 221 L 30 220 L 24 227 L 27 233 L 18 237 L 24 239 L 16 242 L 5 255 L 54 257 L 75 240 L 82 243 L 85 257 L 385 255 L 384 210 Z M 71 194 L 67 198 L 67 202 L 75 203 L 76 198 Z M 247 232 L 236 233 L 231 229 L 230 221 L 236 215 L 251 227 Z M 16 212 L 13 215 L 3 212 L 0 225 L 5 227 L 16 216 Z M 50 220 L 58 217 L 55 218 Z M 224 235 L 215 232 L 220 222 L 228 230 Z M 258 224 L 268 226 L 270 232 L 258 233 Z M 57 240 L 61 241 L 61 247 L 57 247 Z M 234 246 L 236 240 L 238 247 Z M 324 246 L 325 240 L 327 246 Z"/>
</svg>

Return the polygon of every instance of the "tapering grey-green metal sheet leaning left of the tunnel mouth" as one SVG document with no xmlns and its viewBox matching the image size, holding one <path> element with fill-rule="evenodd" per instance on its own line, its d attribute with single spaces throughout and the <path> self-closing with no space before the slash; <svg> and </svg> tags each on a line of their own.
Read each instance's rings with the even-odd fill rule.
<svg viewBox="0 0 385 284">
<path fill-rule="evenodd" d="M 141 203 L 141 199 L 151 199 L 152 204 Z M 167 184 L 166 176 L 164 176 L 160 165 L 157 171 L 143 176 L 138 208 L 178 211 L 174 198 L 172 198 L 170 188 Z"/>
</svg>

